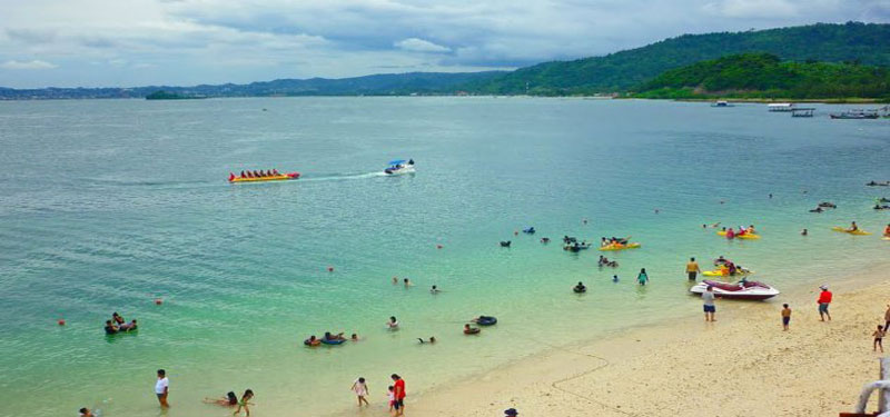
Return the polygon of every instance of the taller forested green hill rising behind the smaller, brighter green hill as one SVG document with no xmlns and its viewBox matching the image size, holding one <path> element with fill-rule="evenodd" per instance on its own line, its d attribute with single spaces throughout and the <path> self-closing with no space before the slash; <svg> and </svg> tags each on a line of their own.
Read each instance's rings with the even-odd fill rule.
<svg viewBox="0 0 890 417">
<path fill-rule="evenodd" d="M 521 68 L 468 89 L 482 93 L 576 95 L 626 91 L 662 72 L 744 52 L 791 61 L 854 61 L 890 66 L 890 24 L 817 23 L 746 32 L 683 34 L 642 48 Z"/>
</svg>

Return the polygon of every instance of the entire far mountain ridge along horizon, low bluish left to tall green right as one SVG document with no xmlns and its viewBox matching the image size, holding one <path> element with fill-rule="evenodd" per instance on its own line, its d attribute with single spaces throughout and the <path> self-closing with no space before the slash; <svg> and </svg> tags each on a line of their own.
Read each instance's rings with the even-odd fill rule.
<svg viewBox="0 0 890 417">
<path fill-rule="evenodd" d="M 731 54 L 767 52 L 783 61 L 890 67 L 890 24 L 815 23 L 745 32 L 683 34 L 641 48 L 511 72 L 408 72 L 344 79 L 281 79 L 249 85 L 137 88 L 0 88 L 0 100 L 136 98 L 156 91 L 196 97 L 405 96 L 411 93 L 568 96 L 633 92 L 665 71 Z"/>
</svg>

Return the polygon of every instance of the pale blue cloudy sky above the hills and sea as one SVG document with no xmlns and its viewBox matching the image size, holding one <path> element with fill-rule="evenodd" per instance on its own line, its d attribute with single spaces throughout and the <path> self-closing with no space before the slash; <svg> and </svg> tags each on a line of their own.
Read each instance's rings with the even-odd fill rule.
<svg viewBox="0 0 890 417">
<path fill-rule="evenodd" d="M 508 70 L 849 20 L 890 22 L 890 0 L 0 0 L 0 87 Z"/>
</svg>

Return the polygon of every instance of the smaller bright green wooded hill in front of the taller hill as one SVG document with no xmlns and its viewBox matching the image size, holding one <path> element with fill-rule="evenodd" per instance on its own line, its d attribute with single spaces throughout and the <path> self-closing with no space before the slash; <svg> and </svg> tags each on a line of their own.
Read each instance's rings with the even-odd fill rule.
<svg viewBox="0 0 890 417">
<path fill-rule="evenodd" d="M 849 62 L 783 62 L 770 53 L 742 53 L 666 71 L 639 90 L 634 97 L 890 99 L 890 70 Z"/>
</svg>

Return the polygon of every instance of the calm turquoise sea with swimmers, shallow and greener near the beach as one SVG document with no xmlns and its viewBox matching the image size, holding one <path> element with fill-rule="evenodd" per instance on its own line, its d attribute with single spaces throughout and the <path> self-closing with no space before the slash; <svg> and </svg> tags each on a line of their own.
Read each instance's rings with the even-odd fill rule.
<svg viewBox="0 0 890 417">
<path fill-rule="evenodd" d="M 358 376 L 383 407 L 392 373 L 416 395 L 698 311 L 689 256 L 725 255 L 780 289 L 830 282 L 890 250 L 877 236 L 890 214 L 870 209 L 890 189 L 863 186 L 890 179 L 890 120 L 832 121 L 839 108 L 819 107 L 792 119 L 763 105 L 574 99 L 0 102 L 0 388 L 12 399 L 0 416 L 156 416 L 161 367 L 170 416 L 222 416 L 200 399 L 248 387 L 257 416 L 337 413 Z M 415 176 L 379 175 L 408 157 Z M 304 177 L 226 182 L 271 167 Z M 839 208 L 807 212 L 822 200 Z M 829 230 L 850 220 L 876 236 Z M 763 239 L 701 228 L 716 221 Z M 513 236 L 530 225 L 536 236 Z M 567 254 L 563 235 L 643 248 L 599 270 L 599 252 Z M 138 335 L 107 338 L 112 311 Z M 501 322 L 464 337 L 479 314 Z M 326 329 L 364 340 L 301 346 Z M 432 335 L 436 346 L 416 344 Z"/>
</svg>

